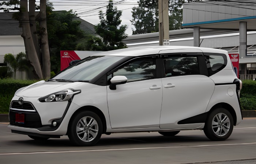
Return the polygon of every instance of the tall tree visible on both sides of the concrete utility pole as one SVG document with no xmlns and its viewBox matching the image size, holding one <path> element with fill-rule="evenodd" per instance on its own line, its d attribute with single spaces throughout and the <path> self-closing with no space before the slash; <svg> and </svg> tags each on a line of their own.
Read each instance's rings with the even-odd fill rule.
<svg viewBox="0 0 256 164">
<path fill-rule="evenodd" d="M 158 32 L 158 0 L 139 0 L 139 7 L 132 8 L 132 34 Z M 182 4 L 200 0 L 169 0 L 169 30 L 182 28 Z"/>
</svg>

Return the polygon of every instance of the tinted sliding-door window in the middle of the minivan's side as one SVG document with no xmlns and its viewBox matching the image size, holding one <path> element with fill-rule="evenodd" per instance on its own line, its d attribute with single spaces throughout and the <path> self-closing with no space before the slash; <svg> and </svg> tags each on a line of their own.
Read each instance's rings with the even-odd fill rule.
<svg viewBox="0 0 256 164">
<path fill-rule="evenodd" d="M 163 59 L 163 63 L 165 77 L 199 74 L 197 57 L 195 56 L 169 56 Z"/>
</svg>

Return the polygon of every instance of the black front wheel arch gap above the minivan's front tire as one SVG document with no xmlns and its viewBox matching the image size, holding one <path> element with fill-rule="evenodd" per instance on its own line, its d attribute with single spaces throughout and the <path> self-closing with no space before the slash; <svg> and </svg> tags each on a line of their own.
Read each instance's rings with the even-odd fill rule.
<svg viewBox="0 0 256 164">
<path fill-rule="evenodd" d="M 80 113 L 80 112 L 82 112 L 82 111 L 91 111 L 91 112 L 94 112 L 94 113 L 96 113 L 98 116 L 99 116 L 99 118 L 101 118 L 101 121 L 102 121 L 102 126 L 103 126 L 103 131 L 102 131 L 102 133 L 104 134 L 104 133 L 106 133 L 106 129 L 107 129 L 107 125 L 106 125 L 106 118 L 105 118 L 105 115 L 102 113 L 102 111 L 100 110 L 100 109 L 98 109 L 97 107 L 95 107 L 95 106 L 83 106 L 83 107 L 81 107 L 81 108 L 79 108 L 78 110 L 76 110 L 73 114 L 72 114 L 72 116 L 71 116 L 71 118 L 70 118 L 70 120 L 69 120 L 69 122 L 68 122 L 68 130 L 67 130 L 67 133 L 68 133 L 68 131 L 69 131 L 69 126 L 70 126 L 70 122 L 71 122 L 71 120 L 76 116 L 76 114 L 78 114 L 78 113 Z"/>
</svg>

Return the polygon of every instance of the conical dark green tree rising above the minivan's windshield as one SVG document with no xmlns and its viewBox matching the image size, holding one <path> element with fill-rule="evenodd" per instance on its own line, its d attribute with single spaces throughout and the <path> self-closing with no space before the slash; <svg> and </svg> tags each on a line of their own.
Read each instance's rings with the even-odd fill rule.
<svg viewBox="0 0 256 164">
<path fill-rule="evenodd" d="M 100 23 L 95 26 L 95 31 L 101 39 L 91 37 L 87 42 L 88 46 L 101 47 L 100 50 L 103 51 L 127 48 L 122 42 L 123 39 L 128 37 L 125 34 L 127 25 L 121 25 L 121 15 L 122 12 L 113 6 L 113 0 L 109 0 L 106 14 L 99 11 Z"/>
</svg>

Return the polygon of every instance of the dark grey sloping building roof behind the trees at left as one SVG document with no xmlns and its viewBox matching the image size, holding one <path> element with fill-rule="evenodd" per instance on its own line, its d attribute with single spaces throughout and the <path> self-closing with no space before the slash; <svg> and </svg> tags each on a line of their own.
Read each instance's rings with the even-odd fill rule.
<svg viewBox="0 0 256 164">
<path fill-rule="evenodd" d="M 22 28 L 19 28 L 19 21 L 12 19 L 14 12 L 0 12 L 0 36 L 8 35 L 21 35 Z M 79 18 L 75 17 L 75 20 L 81 21 L 80 28 L 87 34 L 96 34 L 94 25 Z"/>
</svg>

